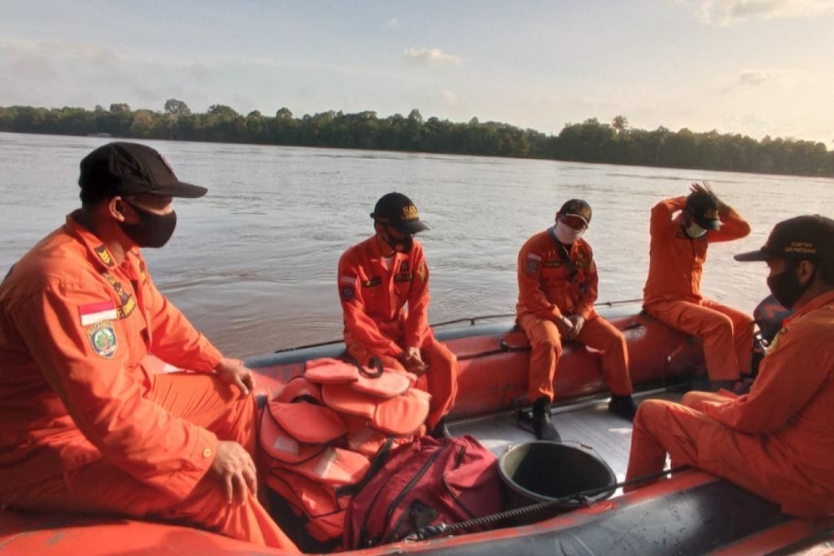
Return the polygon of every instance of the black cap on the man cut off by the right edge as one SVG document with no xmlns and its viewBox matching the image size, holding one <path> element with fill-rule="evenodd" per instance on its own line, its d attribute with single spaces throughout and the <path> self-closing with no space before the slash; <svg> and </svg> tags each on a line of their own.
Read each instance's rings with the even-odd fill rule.
<svg viewBox="0 0 834 556">
<path fill-rule="evenodd" d="M 761 249 L 740 253 L 736 261 L 766 261 L 786 258 L 834 264 L 834 220 L 806 214 L 782 220 L 773 227 Z"/>
</svg>

